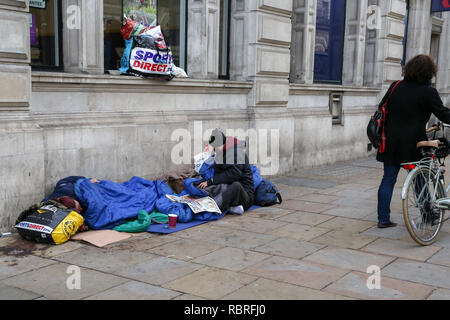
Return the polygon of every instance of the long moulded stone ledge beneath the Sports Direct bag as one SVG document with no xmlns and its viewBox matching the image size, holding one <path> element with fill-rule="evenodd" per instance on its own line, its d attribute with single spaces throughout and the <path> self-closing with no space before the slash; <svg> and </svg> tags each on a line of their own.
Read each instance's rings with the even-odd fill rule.
<svg viewBox="0 0 450 320">
<path fill-rule="evenodd" d="M 156 93 L 242 93 L 247 94 L 252 82 L 228 80 L 173 79 L 161 81 L 133 76 L 85 75 L 74 73 L 33 71 L 34 92 L 89 91 L 101 92 L 156 92 Z"/>
</svg>

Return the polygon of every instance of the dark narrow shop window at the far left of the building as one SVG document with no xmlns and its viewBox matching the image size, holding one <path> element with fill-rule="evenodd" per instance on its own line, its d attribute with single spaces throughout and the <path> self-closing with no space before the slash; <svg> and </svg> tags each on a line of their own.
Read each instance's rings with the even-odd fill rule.
<svg viewBox="0 0 450 320">
<path fill-rule="evenodd" d="M 33 69 L 62 69 L 61 0 L 30 1 L 30 51 Z"/>
</svg>

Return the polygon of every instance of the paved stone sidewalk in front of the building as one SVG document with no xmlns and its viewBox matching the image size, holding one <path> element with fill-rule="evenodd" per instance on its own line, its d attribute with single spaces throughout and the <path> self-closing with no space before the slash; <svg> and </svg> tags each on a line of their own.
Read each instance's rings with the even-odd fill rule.
<svg viewBox="0 0 450 320">
<path fill-rule="evenodd" d="M 0 238 L 0 299 L 450 299 L 450 222 L 428 247 L 401 223 L 378 229 L 381 176 L 373 157 L 299 170 L 273 179 L 281 205 L 105 248 Z M 71 267 L 79 289 L 68 288 Z"/>
</svg>

